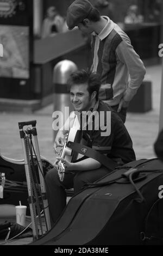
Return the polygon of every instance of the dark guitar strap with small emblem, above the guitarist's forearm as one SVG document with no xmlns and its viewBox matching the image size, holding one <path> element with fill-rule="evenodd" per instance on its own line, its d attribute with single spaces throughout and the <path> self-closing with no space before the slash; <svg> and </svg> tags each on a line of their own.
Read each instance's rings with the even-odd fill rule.
<svg viewBox="0 0 163 256">
<path fill-rule="evenodd" d="M 110 170 L 114 170 L 118 166 L 118 164 L 114 162 L 112 159 L 110 159 L 109 157 L 102 155 L 97 150 L 86 147 L 85 145 L 68 141 L 67 147 L 73 149 L 78 154 L 82 154 L 84 156 L 91 157 L 92 159 L 97 160 L 98 162 L 103 164 L 103 166 L 105 166 Z"/>
</svg>

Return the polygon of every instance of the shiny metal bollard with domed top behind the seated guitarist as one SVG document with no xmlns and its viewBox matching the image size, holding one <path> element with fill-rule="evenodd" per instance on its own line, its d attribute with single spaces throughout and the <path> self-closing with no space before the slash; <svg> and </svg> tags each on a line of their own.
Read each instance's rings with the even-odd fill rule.
<svg viewBox="0 0 163 256">
<path fill-rule="evenodd" d="M 73 111 L 73 107 L 70 102 L 70 88 L 67 86 L 67 80 L 70 75 L 77 71 L 77 65 L 71 60 L 61 60 L 57 65 L 55 65 L 53 70 L 53 86 L 54 86 L 54 113 L 58 111 L 62 113 L 59 115 L 59 123 L 65 123 L 66 113 L 65 107 L 68 107 L 69 113 Z M 53 116 L 54 117 L 54 116 Z M 60 126 L 60 125 L 59 125 Z M 53 128 L 54 130 L 54 128 Z M 58 130 L 54 130 L 54 139 L 57 135 Z"/>
</svg>

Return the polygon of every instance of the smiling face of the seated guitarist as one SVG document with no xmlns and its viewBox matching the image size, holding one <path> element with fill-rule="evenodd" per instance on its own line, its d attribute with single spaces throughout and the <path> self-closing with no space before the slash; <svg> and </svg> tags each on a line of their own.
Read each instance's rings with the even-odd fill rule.
<svg viewBox="0 0 163 256">
<path fill-rule="evenodd" d="M 75 111 L 89 111 L 95 97 L 92 97 L 87 90 L 87 83 L 74 84 L 70 90 L 70 100 Z"/>
</svg>

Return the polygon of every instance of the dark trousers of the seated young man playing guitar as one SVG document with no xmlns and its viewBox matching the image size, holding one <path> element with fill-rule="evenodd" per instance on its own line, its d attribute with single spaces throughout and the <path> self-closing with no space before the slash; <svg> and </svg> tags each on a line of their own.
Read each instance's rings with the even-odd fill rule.
<svg viewBox="0 0 163 256">
<path fill-rule="evenodd" d="M 65 173 L 64 181 L 60 181 L 57 168 L 49 170 L 46 174 L 45 181 L 47 187 L 47 199 L 49 206 L 49 215 L 51 225 L 53 226 L 66 207 L 65 189 L 74 188 L 74 194 L 84 188 L 87 182 L 95 182 L 107 175 L 110 170 L 101 166 L 96 170 L 87 170 L 83 172 Z"/>
</svg>

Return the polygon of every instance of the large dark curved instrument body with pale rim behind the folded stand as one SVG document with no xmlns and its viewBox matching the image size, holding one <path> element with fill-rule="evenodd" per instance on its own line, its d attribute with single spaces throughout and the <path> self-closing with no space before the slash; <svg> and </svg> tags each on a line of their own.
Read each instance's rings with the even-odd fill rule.
<svg viewBox="0 0 163 256">
<path fill-rule="evenodd" d="M 48 170 L 53 168 L 53 164 L 43 156 L 41 156 L 41 161 L 43 174 L 46 175 Z M 35 157 L 34 164 L 37 172 L 38 168 Z M 21 201 L 22 205 L 27 205 L 27 215 L 30 214 L 24 160 L 9 159 L 0 154 L 0 172 L 5 173 L 5 186 L 3 198 L 0 198 L 0 206 L 1 204 L 19 205 L 19 201 Z M 24 186 L 19 186 L 18 182 L 23 182 Z"/>
</svg>

